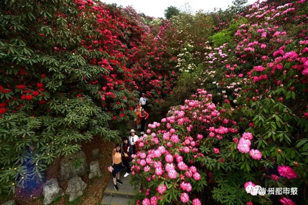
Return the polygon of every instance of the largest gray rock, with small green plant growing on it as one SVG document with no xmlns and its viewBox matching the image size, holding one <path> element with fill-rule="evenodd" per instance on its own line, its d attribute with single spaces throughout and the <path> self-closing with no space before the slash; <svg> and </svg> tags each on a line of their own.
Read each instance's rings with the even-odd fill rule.
<svg viewBox="0 0 308 205">
<path fill-rule="evenodd" d="M 75 158 L 82 158 L 83 163 L 80 168 L 75 168 L 72 164 Z M 60 180 L 69 180 L 74 176 L 83 176 L 87 171 L 87 156 L 80 151 L 76 154 L 71 154 L 61 160 Z"/>
</svg>

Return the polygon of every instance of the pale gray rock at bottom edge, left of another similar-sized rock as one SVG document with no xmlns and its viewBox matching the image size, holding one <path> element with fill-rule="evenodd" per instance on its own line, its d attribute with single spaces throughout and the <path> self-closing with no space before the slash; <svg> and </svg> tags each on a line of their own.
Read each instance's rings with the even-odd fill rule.
<svg viewBox="0 0 308 205">
<path fill-rule="evenodd" d="M 49 179 L 44 184 L 43 196 L 44 196 L 44 201 L 43 201 L 44 205 L 51 203 L 58 196 L 63 196 L 63 191 L 59 187 L 57 179 Z"/>
</svg>

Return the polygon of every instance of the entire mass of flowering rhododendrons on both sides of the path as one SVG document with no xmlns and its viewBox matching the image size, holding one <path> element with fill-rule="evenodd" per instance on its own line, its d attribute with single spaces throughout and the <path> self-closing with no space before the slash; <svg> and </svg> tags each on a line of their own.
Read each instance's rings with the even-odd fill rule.
<svg viewBox="0 0 308 205">
<path fill-rule="evenodd" d="M 159 123 L 134 156 L 137 204 L 306 204 L 308 2 L 245 2 L 168 20 L 1 2 L 0 192 L 94 135 L 116 140 L 142 91 Z M 298 192 L 245 191 L 256 185 Z"/>
</svg>

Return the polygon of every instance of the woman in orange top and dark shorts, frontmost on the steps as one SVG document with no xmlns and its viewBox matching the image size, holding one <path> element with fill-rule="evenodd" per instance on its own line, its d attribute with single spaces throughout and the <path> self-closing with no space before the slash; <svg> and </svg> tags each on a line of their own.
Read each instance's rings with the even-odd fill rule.
<svg viewBox="0 0 308 205">
<path fill-rule="evenodd" d="M 121 152 L 122 152 L 121 145 L 118 143 L 115 145 L 115 148 L 111 153 L 112 166 L 113 166 L 112 176 L 113 176 L 114 188 L 116 191 L 119 191 L 119 187 L 117 186 L 116 183 L 122 184 L 122 182 L 120 181 L 120 171 L 123 167 Z"/>
</svg>

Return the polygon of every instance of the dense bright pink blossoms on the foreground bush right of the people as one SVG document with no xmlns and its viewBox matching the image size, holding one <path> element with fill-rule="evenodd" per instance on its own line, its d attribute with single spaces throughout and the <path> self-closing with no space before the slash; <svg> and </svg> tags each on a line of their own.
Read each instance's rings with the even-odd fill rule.
<svg viewBox="0 0 308 205">
<path fill-rule="evenodd" d="M 216 110 L 216 105 L 211 102 L 212 95 L 205 90 L 198 89 L 197 94 L 192 97 L 191 100 L 185 100 L 184 105 L 172 108 L 168 116 L 163 118 L 160 123 L 154 122 L 150 124 L 147 134 L 139 140 L 139 145 L 142 145 L 141 147 L 139 146 L 140 151 L 132 156 L 132 175 L 144 173 L 147 175 L 146 180 L 148 182 L 172 180 L 183 191 L 180 195 L 180 200 L 183 203 L 189 201 L 189 192 L 193 190 L 197 181 L 202 178 L 201 170 L 194 166 L 194 159 L 203 157 L 203 154 L 199 151 L 199 144 L 205 135 L 189 136 L 189 130 L 193 129 L 198 124 L 197 122 L 200 122 L 201 129 L 214 133 L 217 139 L 222 139 L 223 135 L 227 133 L 234 134 L 238 132 L 237 129 L 225 126 L 217 128 L 213 126 L 205 127 L 204 125 L 207 123 L 236 124 L 236 122 L 220 117 L 220 112 Z M 223 110 L 222 112 L 225 111 Z M 176 134 L 175 127 L 177 126 L 186 128 L 186 131 L 181 135 Z M 244 137 L 250 138 L 249 134 L 244 134 Z M 147 152 L 142 151 L 144 148 Z M 216 155 L 220 153 L 220 150 L 219 148 L 213 148 L 213 152 Z M 184 159 L 184 155 L 190 157 Z M 167 190 L 165 184 L 160 184 L 153 188 L 156 190 L 155 200 L 144 198 L 142 203 L 156 204 L 156 199 L 159 199 Z M 149 194 L 146 192 L 146 196 Z M 192 202 L 196 205 L 201 204 L 199 199 L 193 199 Z"/>
</svg>

